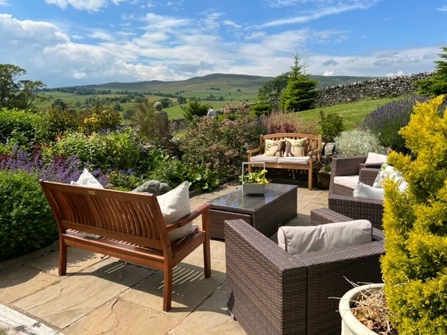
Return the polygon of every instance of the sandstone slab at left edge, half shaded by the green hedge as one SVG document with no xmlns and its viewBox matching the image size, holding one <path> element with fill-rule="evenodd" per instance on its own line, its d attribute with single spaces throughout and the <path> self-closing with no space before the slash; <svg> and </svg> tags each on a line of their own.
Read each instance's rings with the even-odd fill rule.
<svg viewBox="0 0 447 335">
<path fill-rule="evenodd" d="M 2 269 L 0 273 L 0 301 L 9 304 L 56 283 L 57 276 L 27 265 Z"/>
</svg>

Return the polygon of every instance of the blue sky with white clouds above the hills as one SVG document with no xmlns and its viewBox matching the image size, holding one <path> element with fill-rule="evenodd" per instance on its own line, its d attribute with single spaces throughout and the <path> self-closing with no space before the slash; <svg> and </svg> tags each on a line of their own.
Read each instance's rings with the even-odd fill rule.
<svg viewBox="0 0 447 335">
<path fill-rule="evenodd" d="M 434 70 L 447 0 L 0 0 L 0 64 L 47 87 Z"/>
</svg>

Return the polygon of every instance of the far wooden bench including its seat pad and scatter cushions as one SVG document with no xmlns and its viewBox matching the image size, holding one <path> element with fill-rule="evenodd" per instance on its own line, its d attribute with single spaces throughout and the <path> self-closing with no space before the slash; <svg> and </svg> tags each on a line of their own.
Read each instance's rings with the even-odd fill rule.
<svg viewBox="0 0 447 335">
<path fill-rule="evenodd" d="M 295 145 L 289 144 L 291 140 Z M 308 187 L 312 190 L 313 172 L 318 172 L 321 167 L 321 144 L 321 135 L 300 133 L 260 135 L 259 147 L 247 151 L 248 161 L 265 163 L 265 168 L 307 170 Z"/>
</svg>

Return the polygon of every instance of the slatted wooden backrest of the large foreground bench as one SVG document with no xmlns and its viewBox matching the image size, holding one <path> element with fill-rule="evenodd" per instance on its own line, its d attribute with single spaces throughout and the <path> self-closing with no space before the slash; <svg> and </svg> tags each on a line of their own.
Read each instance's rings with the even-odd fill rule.
<svg viewBox="0 0 447 335">
<path fill-rule="evenodd" d="M 98 234 L 163 249 L 167 231 L 156 195 L 41 181 L 59 232 Z"/>
</svg>

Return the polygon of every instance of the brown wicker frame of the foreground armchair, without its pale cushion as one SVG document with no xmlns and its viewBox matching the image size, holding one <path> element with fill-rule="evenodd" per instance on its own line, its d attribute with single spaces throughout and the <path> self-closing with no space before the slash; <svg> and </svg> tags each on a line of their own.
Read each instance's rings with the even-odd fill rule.
<svg viewBox="0 0 447 335">
<path fill-rule="evenodd" d="M 312 224 L 349 220 L 329 209 L 311 214 Z M 242 220 L 225 221 L 225 239 L 227 307 L 249 335 L 340 334 L 346 278 L 381 282 L 380 230 L 367 244 L 295 256 Z"/>
</svg>

